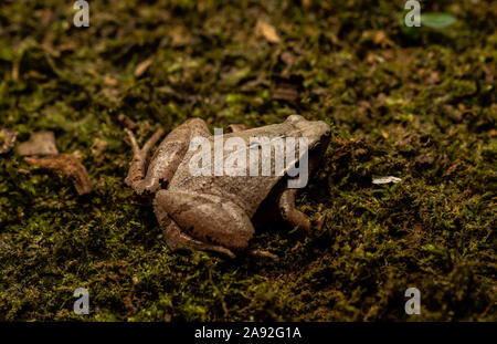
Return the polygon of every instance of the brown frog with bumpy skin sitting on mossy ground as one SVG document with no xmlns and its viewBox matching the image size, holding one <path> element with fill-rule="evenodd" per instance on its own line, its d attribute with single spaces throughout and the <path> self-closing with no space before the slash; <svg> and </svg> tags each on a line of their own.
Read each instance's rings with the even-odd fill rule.
<svg viewBox="0 0 497 344">
<path fill-rule="evenodd" d="M 272 161 L 269 175 L 193 175 L 191 149 L 195 138 L 214 142 L 208 124 L 200 117 L 187 119 L 166 134 L 158 129 L 142 147 L 134 133 L 125 128 L 133 149 L 125 184 L 136 195 L 152 199 L 154 212 L 167 247 L 172 251 L 193 249 L 216 252 L 229 258 L 239 256 L 268 257 L 275 254 L 252 247 L 255 228 L 279 216 L 292 228 L 305 233 L 310 231 L 310 220 L 296 208 L 296 197 L 304 188 L 292 188 L 285 169 L 276 174 Z M 328 147 L 330 126 L 324 121 L 308 121 L 302 115 L 290 115 L 284 122 L 251 128 L 230 125 L 223 135 L 237 137 L 251 146 L 252 137 L 306 138 L 309 175 L 315 171 Z M 225 149 L 225 148 L 224 148 Z M 271 156 L 274 158 L 274 156 Z M 296 164 L 300 164 L 297 154 Z"/>
</svg>

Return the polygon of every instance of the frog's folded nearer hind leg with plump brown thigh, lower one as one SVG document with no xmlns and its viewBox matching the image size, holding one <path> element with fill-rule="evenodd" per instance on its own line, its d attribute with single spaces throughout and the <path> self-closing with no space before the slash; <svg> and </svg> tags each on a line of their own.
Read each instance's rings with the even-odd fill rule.
<svg viewBox="0 0 497 344">
<path fill-rule="evenodd" d="M 165 237 L 171 249 L 187 246 L 223 253 L 228 251 L 226 254 L 232 256 L 232 252 L 246 251 L 254 234 L 254 227 L 243 209 L 214 195 L 160 190 L 155 199 L 155 211 L 158 218 L 168 216 L 177 223 L 171 226 L 162 220 Z"/>
</svg>

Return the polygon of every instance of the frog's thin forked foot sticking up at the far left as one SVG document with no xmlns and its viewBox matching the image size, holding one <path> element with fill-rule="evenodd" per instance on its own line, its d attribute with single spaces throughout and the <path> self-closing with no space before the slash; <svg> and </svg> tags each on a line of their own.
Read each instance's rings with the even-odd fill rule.
<svg viewBox="0 0 497 344">
<path fill-rule="evenodd" d="M 147 174 L 147 164 L 150 158 L 150 152 L 154 146 L 159 142 L 160 137 L 165 134 L 162 129 L 158 129 L 144 145 L 140 149 L 138 143 L 136 142 L 135 135 L 129 129 L 125 129 L 128 134 L 129 140 L 133 147 L 133 161 L 129 167 L 128 176 L 125 183 L 130 186 L 135 192 L 142 195 L 145 191 L 144 178 Z"/>
</svg>

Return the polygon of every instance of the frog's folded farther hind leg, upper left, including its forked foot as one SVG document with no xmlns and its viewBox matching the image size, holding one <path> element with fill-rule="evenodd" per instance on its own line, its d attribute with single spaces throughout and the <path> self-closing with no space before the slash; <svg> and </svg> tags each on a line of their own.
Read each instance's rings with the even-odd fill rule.
<svg viewBox="0 0 497 344">
<path fill-rule="evenodd" d="M 141 149 L 133 133 L 128 129 L 126 129 L 126 133 L 131 142 L 134 156 L 125 181 L 138 195 L 142 195 L 146 191 L 156 192 L 171 180 L 188 150 L 192 137 L 210 136 L 209 128 L 203 119 L 188 119 L 166 136 L 147 166 L 150 150 L 163 135 L 163 131 L 159 129 L 154 134 Z"/>
</svg>

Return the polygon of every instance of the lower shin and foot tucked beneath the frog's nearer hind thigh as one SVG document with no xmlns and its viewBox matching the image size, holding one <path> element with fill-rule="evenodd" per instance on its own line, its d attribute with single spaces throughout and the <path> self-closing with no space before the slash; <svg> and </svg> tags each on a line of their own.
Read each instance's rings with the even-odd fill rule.
<svg viewBox="0 0 497 344">
<path fill-rule="evenodd" d="M 154 204 L 154 210 L 157 216 L 157 220 L 162 229 L 166 244 L 172 251 L 181 250 L 184 248 L 192 248 L 203 251 L 213 251 L 222 254 L 226 254 L 230 258 L 235 258 L 235 254 L 221 246 L 209 244 L 197 239 L 193 239 L 176 223 L 166 212 L 166 210 L 158 204 Z"/>
</svg>

